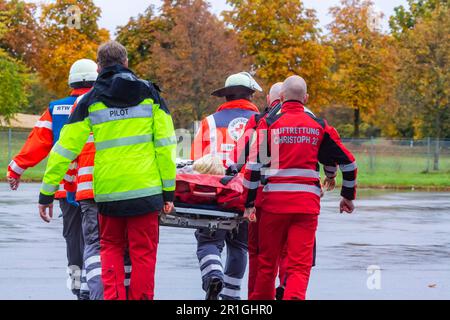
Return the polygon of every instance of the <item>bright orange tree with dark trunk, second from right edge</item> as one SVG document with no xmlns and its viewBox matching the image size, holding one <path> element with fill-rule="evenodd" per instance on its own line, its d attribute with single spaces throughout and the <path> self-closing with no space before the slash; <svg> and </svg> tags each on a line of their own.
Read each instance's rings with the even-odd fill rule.
<svg viewBox="0 0 450 320">
<path fill-rule="evenodd" d="M 354 136 L 362 118 L 370 120 L 393 94 L 395 64 L 390 38 L 372 24 L 372 2 L 341 0 L 330 9 L 329 25 L 335 50 L 335 103 L 354 109 Z"/>
</svg>

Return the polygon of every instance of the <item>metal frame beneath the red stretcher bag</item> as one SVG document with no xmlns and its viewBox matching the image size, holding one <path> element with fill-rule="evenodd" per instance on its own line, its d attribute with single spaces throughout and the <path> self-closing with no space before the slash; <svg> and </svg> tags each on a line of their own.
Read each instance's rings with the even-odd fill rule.
<svg viewBox="0 0 450 320">
<path fill-rule="evenodd" d="M 243 219 L 233 212 L 175 207 L 168 215 L 161 213 L 160 226 L 182 229 L 209 229 L 210 232 L 239 228 Z"/>
</svg>

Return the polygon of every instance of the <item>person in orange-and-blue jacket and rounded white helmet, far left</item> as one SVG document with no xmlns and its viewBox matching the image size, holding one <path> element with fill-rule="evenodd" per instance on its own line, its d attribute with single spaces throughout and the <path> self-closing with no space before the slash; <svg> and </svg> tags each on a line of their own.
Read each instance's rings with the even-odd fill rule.
<svg viewBox="0 0 450 320">
<path fill-rule="evenodd" d="M 12 190 L 17 190 L 22 174 L 44 160 L 59 139 L 60 131 L 66 124 L 75 100 L 88 92 L 97 79 L 97 64 L 92 60 L 76 61 L 69 74 L 70 96 L 53 101 L 36 123 L 22 150 L 8 166 L 7 178 Z M 80 298 L 80 276 L 83 267 L 83 235 L 81 214 L 75 202 L 76 166 L 71 165 L 60 190 L 56 194 L 63 216 L 63 236 L 67 244 L 67 259 L 72 292 Z M 67 190 L 67 191 L 66 191 Z M 49 221 L 47 221 L 49 222 Z M 68 282 L 68 283 L 69 283 Z"/>
</svg>

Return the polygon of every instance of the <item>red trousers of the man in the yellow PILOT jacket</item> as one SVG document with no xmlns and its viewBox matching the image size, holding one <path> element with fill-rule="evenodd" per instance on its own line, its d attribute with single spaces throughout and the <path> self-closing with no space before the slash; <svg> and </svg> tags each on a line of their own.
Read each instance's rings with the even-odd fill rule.
<svg viewBox="0 0 450 320">
<path fill-rule="evenodd" d="M 132 265 L 129 300 L 153 300 L 159 238 L 158 213 L 133 217 L 99 215 L 100 256 L 105 300 L 126 300 L 124 254 Z"/>
</svg>

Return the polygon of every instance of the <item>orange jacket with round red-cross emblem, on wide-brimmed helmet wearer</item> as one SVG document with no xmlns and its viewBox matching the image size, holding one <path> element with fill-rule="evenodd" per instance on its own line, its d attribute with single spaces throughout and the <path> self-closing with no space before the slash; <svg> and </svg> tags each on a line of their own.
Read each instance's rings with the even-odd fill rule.
<svg viewBox="0 0 450 320">
<path fill-rule="evenodd" d="M 225 167 L 230 166 L 231 152 L 244 134 L 248 120 L 258 113 L 258 108 L 245 99 L 222 104 L 216 113 L 202 121 L 192 144 L 191 159 L 212 154 L 220 157 Z"/>
</svg>

